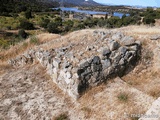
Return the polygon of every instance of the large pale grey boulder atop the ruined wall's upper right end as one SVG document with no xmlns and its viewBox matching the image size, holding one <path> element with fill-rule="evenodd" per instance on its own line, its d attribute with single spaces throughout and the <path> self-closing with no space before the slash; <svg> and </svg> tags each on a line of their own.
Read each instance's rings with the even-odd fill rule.
<svg viewBox="0 0 160 120">
<path fill-rule="evenodd" d="M 135 39 L 131 36 L 125 36 L 121 39 L 120 43 L 125 46 L 130 46 L 135 44 Z"/>
</svg>

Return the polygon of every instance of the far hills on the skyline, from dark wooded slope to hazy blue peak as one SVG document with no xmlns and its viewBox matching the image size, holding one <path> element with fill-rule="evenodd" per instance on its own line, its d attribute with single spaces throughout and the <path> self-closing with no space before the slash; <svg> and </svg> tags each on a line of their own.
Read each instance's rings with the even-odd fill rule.
<svg viewBox="0 0 160 120">
<path fill-rule="evenodd" d="M 0 15 L 17 13 L 32 9 L 32 11 L 45 11 L 51 7 L 59 7 L 62 0 L 0 0 Z M 65 7 L 71 6 L 98 6 L 93 0 L 63 0 Z"/>
</svg>

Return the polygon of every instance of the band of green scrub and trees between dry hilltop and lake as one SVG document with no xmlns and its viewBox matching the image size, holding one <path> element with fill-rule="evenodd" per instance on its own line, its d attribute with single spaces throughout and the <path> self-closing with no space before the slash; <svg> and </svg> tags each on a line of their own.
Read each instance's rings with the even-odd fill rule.
<svg viewBox="0 0 160 120">
<path fill-rule="evenodd" d="M 56 5 L 56 4 L 55 4 Z M 154 25 L 155 19 L 160 18 L 160 10 L 147 8 L 144 12 L 130 10 L 130 16 L 122 18 L 92 18 L 70 19 L 64 12 L 64 19 L 60 17 L 60 10 L 49 9 L 54 6 L 44 6 L 36 2 L 8 2 L 2 1 L 0 9 L 0 48 L 8 49 L 29 36 L 38 33 L 65 34 L 84 28 L 119 28 L 127 25 Z"/>
</svg>

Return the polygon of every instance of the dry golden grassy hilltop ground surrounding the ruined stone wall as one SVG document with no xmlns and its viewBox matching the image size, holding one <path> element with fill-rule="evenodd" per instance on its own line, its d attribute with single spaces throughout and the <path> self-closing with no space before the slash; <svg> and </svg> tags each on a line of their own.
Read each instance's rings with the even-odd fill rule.
<svg viewBox="0 0 160 120">
<path fill-rule="evenodd" d="M 101 34 L 95 37 L 97 34 L 95 31 Z M 41 61 L 32 59 L 25 64 L 25 62 L 19 61 L 21 55 L 28 55 L 26 53 L 30 50 L 46 50 L 45 55 L 47 57 L 49 56 L 47 51 L 50 49 L 58 50 L 68 45 L 72 45 L 68 52 L 74 53 L 80 50 L 76 58 L 78 60 L 85 59 L 90 54 L 98 55 L 97 48 L 93 52 L 94 48 L 87 46 L 93 44 L 100 46 L 105 37 L 110 38 L 119 32 L 124 36 L 132 36 L 141 42 L 140 60 L 125 75 L 113 77 L 92 87 L 92 89 L 88 89 L 76 101 L 53 81 L 53 76 L 49 75 L 47 67 L 44 66 L 45 62 L 41 63 Z M 105 36 L 104 33 L 110 34 Z M 160 72 L 159 34 L 159 27 L 156 26 L 127 26 L 109 30 L 85 29 L 64 36 L 41 34 L 38 35 L 40 44 L 31 46 L 32 49 L 28 47 L 21 52 L 16 52 L 23 45 L 20 43 L 6 52 L 1 51 L 0 55 L 8 56 L 8 59 L 0 63 L 0 118 L 56 120 L 57 117 L 62 117 L 71 120 L 133 120 L 138 119 L 139 116 L 137 115 L 145 114 L 150 108 L 152 109 L 147 112 L 148 114 L 155 111 L 155 115 L 159 115 L 160 111 L 156 110 L 154 106 L 160 97 L 158 89 L 160 87 L 158 74 Z M 65 56 L 63 52 L 61 52 L 61 57 Z M 68 54 L 68 56 L 72 55 Z M 32 58 L 32 56 L 29 57 Z M 6 63 L 11 59 L 17 60 L 12 63 L 12 65 L 16 64 L 17 66 L 13 67 Z M 153 106 L 152 103 L 154 103 Z"/>
</svg>

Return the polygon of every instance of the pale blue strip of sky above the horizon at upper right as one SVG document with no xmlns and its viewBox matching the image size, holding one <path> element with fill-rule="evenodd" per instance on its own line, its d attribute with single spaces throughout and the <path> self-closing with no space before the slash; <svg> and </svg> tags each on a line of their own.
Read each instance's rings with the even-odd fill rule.
<svg viewBox="0 0 160 120">
<path fill-rule="evenodd" d="M 97 3 L 114 5 L 139 5 L 160 7 L 160 0 L 94 0 Z"/>
</svg>

